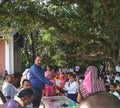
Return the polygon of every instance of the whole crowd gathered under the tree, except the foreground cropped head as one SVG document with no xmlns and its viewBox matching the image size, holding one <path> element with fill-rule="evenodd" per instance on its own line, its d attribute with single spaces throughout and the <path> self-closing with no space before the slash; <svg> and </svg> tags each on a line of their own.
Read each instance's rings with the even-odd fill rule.
<svg viewBox="0 0 120 108">
<path fill-rule="evenodd" d="M 67 96 L 76 103 L 99 92 L 107 92 L 120 100 L 120 73 L 99 74 L 95 66 L 87 67 L 84 75 L 76 70 L 65 69 L 52 71 L 51 66 L 42 69 L 41 56 L 35 58 L 34 64 L 23 72 L 21 85 L 15 88 L 14 75 L 5 75 L 2 92 L 7 102 L 3 108 L 39 108 L 42 96 Z M 14 104 L 13 104 L 14 103 Z"/>
</svg>

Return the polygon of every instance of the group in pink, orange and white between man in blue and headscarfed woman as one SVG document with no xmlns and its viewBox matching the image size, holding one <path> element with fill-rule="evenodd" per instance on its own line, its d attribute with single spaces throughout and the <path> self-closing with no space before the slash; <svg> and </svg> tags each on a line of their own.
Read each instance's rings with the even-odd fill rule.
<svg viewBox="0 0 120 108">
<path fill-rule="evenodd" d="M 46 85 L 43 90 L 43 95 L 66 95 L 68 98 L 76 102 L 78 92 L 78 81 L 76 81 L 75 73 L 60 73 L 59 71 L 53 73 L 51 67 L 47 67 L 45 77 L 53 82 L 53 86 Z"/>
</svg>

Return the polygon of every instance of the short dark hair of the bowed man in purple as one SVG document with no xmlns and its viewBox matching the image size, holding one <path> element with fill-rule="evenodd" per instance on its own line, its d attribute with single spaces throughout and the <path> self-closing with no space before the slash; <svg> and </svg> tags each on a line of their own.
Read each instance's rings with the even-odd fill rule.
<svg viewBox="0 0 120 108">
<path fill-rule="evenodd" d="M 19 98 L 22 98 L 22 97 L 29 98 L 29 97 L 31 97 L 32 95 L 34 95 L 33 90 L 32 90 L 31 88 L 27 88 L 27 89 L 22 90 L 22 91 L 18 94 L 18 97 L 19 97 Z"/>
</svg>

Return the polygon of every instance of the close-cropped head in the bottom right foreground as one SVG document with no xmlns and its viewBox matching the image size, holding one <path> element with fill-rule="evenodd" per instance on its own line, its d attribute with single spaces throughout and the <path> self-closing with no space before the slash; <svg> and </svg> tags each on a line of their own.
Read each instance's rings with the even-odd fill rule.
<svg viewBox="0 0 120 108">
<path fill-rule="evenodd" d="M 120 100 L 107 92 L 99 92 L 87 97 L 79 108 L 120 108 Z"/>
</svg>

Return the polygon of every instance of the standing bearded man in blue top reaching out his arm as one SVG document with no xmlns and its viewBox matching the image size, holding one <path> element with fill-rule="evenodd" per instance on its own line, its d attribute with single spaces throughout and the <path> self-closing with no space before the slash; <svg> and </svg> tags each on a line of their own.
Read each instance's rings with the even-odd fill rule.
<svg viewBox="0 0 120 108">
<path fill-rule="evenodd" d="M 37 56 L 35 58 L 35 63 L 30 67 L 30 82 L 32 84 L 35 97 L 33 101 L 34 108 L 39 108 L 42 98 L 42 90 L 45 88 L 45 84 L 53 85 L 52 82 L 45 78 L 41 64 L 42 57 Z"/>
</svg>

